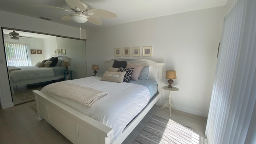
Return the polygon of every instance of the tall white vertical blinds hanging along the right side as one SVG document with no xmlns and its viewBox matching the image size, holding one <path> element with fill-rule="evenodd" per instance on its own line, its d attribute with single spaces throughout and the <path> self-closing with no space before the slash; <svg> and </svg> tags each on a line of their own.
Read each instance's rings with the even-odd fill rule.
<svg viewBox="0 0 256 144">
<path fill-rule="evenodd" d="M 224 18 L 206 125 L 208 144 L 244 144 L 250 123 L 256 123 L 255 35 L 256 0 L 234 0 Z"/>
</svg>

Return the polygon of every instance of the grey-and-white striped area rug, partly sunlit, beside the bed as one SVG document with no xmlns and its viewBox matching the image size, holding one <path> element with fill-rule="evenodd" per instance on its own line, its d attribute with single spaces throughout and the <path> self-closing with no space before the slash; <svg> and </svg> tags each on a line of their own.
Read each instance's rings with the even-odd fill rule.
<svg viewBox="0 0 256 144">
<path fill-rule="evenodd" d="M 153 116 L 133 144 L 201 144 L 199 138 L 173 120 Z"/>
</svg>

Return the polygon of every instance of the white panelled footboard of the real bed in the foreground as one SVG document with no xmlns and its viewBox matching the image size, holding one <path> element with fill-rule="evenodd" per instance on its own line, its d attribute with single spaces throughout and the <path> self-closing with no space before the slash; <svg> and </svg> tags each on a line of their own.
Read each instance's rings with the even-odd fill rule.
<svg viewBox="0 0 256 144">
<path fill-rule="evenodd" d="M 33 90 L 38 120 L 46 120 L 73 144 L 109 144 L 112 128 Z"/>
</svg>

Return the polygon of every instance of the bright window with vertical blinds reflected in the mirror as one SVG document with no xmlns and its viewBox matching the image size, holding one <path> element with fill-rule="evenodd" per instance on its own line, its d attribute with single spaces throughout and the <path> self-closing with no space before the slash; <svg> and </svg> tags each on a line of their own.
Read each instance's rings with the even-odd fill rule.
<svg viewBox="0 0 256 144">
<path fill-rule="evenodd" d="M 5 42 L 4 46 L 8 66 L 28 66 L 26 44 Z"/>
</svg>

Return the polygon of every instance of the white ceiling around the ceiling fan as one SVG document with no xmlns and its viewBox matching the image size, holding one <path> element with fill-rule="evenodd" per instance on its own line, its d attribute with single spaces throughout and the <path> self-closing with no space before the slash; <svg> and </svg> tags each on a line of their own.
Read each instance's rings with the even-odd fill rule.
<svg viewBox="0 0 256 144">
<path fill-rule="evenodd" d="M 134 22 L 159 16 L 167 16 L 193 10 L 224 6 L 228 0 L 81 0 L 89 9 L 103 9 L 114 12 L 117 18 L 101 18 L 101 26 L 111 26 Z M 65 0 L 0 0 L 0 10 L 39 18 L 52 19 L 52 22 L 79 28 L 79 24 L 70 20 L 62 22 L 60 18 L 74 12 L 32 6 L 42 4 L 70 9 Z M 82 29 L 101 27 L 88 22 L 81 24 Z"/>
</svg>

